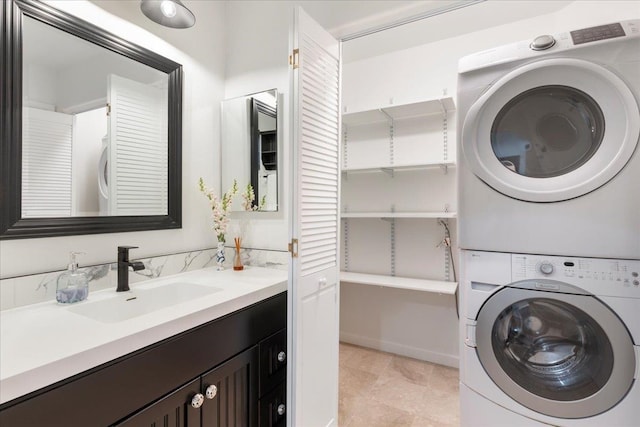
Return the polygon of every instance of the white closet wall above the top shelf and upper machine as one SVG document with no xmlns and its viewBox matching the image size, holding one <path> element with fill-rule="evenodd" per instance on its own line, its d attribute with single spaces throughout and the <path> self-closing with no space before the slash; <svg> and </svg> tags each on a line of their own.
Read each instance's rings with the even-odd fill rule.
<svg viewBox="0 0 640 427">
<path fill-rule="evenodd" d="M 385 55 L 346 62 L 342 75 L 343 107 L 356 111 L 370 108 L 371 105 L 388 105 L 391 98 L 395 104 L 415 102 L 441 96 L 444 90 L 454 95 L 458 59 L 465 55 L 533 39 L 541 34 L 640 17 L 638 1 L 576 1 L 556 13 L 518 21 L 508 21 L 512 14 L 510 9 L 519 7 L 517 1 L 493 0 L 473 5 L 464 11 L 474 10 L 474 18 L 479 18 L 484 13 L 495 13 L 496 4 L 508 23 Z M 430 20 L 436 18 L 426 19 L 422 21 L 422 25 L 430 25 Z M 458 22 L 458 26 L 465 28 L 466 23 Z M 389 30 L 389 37 L 394 36 L 393 32 L 394 30 Z M 361 43 L 358 40 L 354 42 Z M 348 51 L 349 43 L 351 42 L 346 42 L 345 51 Z M 348 60 L 347 54 L 345 60 Z"/>
</svg>

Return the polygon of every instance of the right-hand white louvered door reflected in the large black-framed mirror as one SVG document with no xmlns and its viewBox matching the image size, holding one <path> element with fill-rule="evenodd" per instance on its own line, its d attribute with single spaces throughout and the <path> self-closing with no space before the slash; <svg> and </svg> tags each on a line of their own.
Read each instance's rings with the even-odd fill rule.
<svg viewBox="0 0 640 427">
<path fill-rule="evenodd" d="M 109 75 L 109 214 L 167 215 L 167 90 Z"/>
</svg>

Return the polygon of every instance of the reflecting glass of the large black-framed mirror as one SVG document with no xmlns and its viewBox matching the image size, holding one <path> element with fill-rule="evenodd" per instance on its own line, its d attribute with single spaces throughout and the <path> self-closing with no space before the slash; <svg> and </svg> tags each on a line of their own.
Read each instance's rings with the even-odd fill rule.
<svg viewBox="0 0 640 427">
<path fill-rule="evenodd" d="M 22 218 L 167 215 L 168 83 L 25 16 Z"/>
</svg>

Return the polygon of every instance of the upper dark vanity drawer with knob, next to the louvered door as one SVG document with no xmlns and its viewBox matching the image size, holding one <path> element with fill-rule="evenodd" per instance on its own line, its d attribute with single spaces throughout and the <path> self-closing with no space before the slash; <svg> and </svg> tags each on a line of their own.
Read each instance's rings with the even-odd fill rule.
<svg viewBox="0 0 640 427">
<path fill-rule="evenodd" d="M 286 379 L 287 330 L 282 329 L 260 342 L 260 396 Z"/>
</svg>

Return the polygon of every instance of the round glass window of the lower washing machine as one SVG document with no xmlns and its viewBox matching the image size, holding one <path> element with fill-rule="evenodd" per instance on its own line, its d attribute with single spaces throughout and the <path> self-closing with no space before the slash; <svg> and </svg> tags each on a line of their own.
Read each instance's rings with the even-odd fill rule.
<svg viewBox="0 0 640 427">
<path fill-rule="evenodd" d="M 553 299 L 525 299 L 504 309 L 494 322 L 491 345 L 513 381 L 555 401 L 593 395 L 613 371 L 613 349 L 600 325 Z"/>
</svg>

